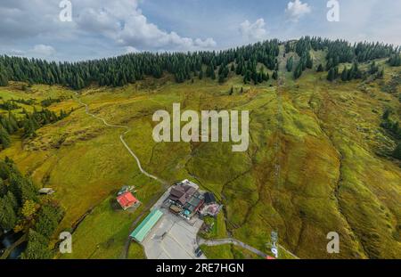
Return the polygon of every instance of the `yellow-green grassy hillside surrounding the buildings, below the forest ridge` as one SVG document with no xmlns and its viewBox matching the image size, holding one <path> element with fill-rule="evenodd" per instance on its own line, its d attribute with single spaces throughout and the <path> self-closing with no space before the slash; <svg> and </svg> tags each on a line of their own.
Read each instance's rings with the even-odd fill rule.
<svg viewBox="0 0 401 277">
<path fill-rule="evenodd" d="M 189 178 L 213 191 L 225 206 L 219 236 L 268 252 L 276 231 L 282 248 L 300 258 L 400 258 L 401 162 L 394 154 L 400 138 L 389 122 L 399 122 L 401 115 L 401 67 L 390 66 L 388 58 L 372 59 L 379 67 L 372 74 L 346 81 L 339 75 L 330 82 L 327 53 L 312 47 L 304 56 L 294 45 L 280 45 L 273 69 L 256 65 L 270 76 L 260 83 L 244 84 L 246 74 L 232 70 L 221 82 L 210 77 L 176 82 L 166 72 L 118 87 L 91 84 L 78 94 L 66 86 L 26 88 L 10 81 L 0 87 L 4 100 L 36 99 L 26 107 L 33 110 L 58 98 L 47 109 L 72 112 L 38 128 L 35 137 L 12 134 L 0 158 L 11 158 L 37 187 L 56 191 L 65 211 L 58 231 L 73 231 L 74 241 L 72 254 L 57 257 L 124 257 L 131 224 L 164 191 L 141 174 L 120 143 L 125 130 L 88 116 L 79 99 L 110 124 L 130 127 L 126 141 L 147 172 L 168 183 Z M 294 65 L 288 72 L 290 57 Z M 303 59 L 305 69 L 294 79 Z M 370 72 L 372 61 L 362 59 L 358 69 Z M 336 63 L 339 74 L 344 67 L 354 74 L 352 62 Z M 319 64 L 323 72 L 316 72 Z M 225 66 L 231 65 L 239 64 Z M 231 143 L 153 142 L 152 114 L 172 110 L 175 102 L 182 110 L 249 110 L 248 151 L 233 152 Z M 18 117 L 21 110 L 12 112 Z M 123 185 L 134 185 L 143 202 L 133 214 L 110 208 Z M 340 254 L 327 253 L 328 232 L 340 234 Z M 231 246 L 203 248 L 217 258 L 252 257 Z M 142 248 L 132 244 L 127 257 L 144 257 Z"/>
</svg>

